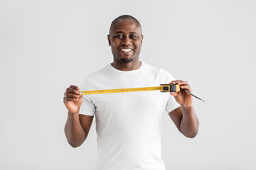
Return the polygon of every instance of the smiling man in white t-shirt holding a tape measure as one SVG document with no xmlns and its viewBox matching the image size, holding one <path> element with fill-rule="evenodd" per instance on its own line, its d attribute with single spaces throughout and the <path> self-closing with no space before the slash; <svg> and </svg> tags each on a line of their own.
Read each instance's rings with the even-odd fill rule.
<svg viewBox="0 0 256 170">
<path fill-rule="evenodd" d="M 116 18 L 107 36 L 114 61 L 90 74 L 82 90 L 125 89 L 179 84 L 191 91 L 188 82 L 174 80 L 164 69 L 139 61 L 142 27 L 132 16 Z M 198 118 L 192 96 L 178 93 L 143 91 L 118 94 L 79 95 L 78 86 L 65 91 L 68 108 L 65 135 L 72 147 L 85 141 L 95 115 L 98 170 L 164 170 L 161 160 L 161 120 L 167 111 L 178 130 L 195 137 Z"/>
</svg>

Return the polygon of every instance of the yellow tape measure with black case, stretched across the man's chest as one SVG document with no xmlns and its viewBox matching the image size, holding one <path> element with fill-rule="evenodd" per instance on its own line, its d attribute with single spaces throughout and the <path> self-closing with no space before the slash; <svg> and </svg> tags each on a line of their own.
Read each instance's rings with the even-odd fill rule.
<svg viewBox="0 0 256 170">
<path fill-rule="evenodd" d="M 135 91 L 157 91 L 157 90 L 160 90 L 161 92 L 178 92 L 180 91 L 180 86 L 178 84 L 160 84 L 160 86 L 154 86 L 154 87 L 80 91 L 80 95 L 113 94 L 113 93 L 135 92 Z"/>
</svg>

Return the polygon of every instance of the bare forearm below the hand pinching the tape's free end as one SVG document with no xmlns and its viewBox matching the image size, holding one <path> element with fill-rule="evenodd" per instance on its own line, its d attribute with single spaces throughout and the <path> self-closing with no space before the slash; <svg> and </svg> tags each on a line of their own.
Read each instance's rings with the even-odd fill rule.
<svg viewBox="0 0 256 170">
<path fill-rule="evenodd" d="M 85 141 L 85 131 L 82 129 L 79 114 L 68 113 L 65 136 L 72 147 L 79 147 Z"/>
</svg>

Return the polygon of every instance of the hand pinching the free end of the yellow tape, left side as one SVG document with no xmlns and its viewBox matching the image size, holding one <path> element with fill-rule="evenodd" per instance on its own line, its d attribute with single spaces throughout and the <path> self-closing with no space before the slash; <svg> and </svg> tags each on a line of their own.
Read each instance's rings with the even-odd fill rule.
<svg viewBox="0 0 256 170">
<path fill-rule="evenodd" d="M 71 85 L 65 91 L 63 102 L 68 111 L 73 114 L 79 114 L 79 108 L 82 104 L 82 95 L 79 94 L 79 87 Z"/>
</svg>

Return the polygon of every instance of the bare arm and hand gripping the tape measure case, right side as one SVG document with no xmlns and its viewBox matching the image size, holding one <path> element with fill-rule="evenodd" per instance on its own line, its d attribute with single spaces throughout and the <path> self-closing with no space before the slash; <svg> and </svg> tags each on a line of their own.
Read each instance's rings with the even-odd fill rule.
<svg viewBox="0 0 256 170">
<path fill-rule="evenodd" d="M 187 89 L 191 92 L 191 88 L 186 81 L 171 81 L 170 84 L 179 84 L 181 89 Z M 174 121 L 174 124 L 183 135 L 191 138 L 195 137 L 198 133 L 199 120 L 192 106 L 192 96 L 182 90 L 178 93 L 171 93 L 171 95 L 181 105 L 181 107 L 169 113 L 171 120 Z"/>
</svg>

